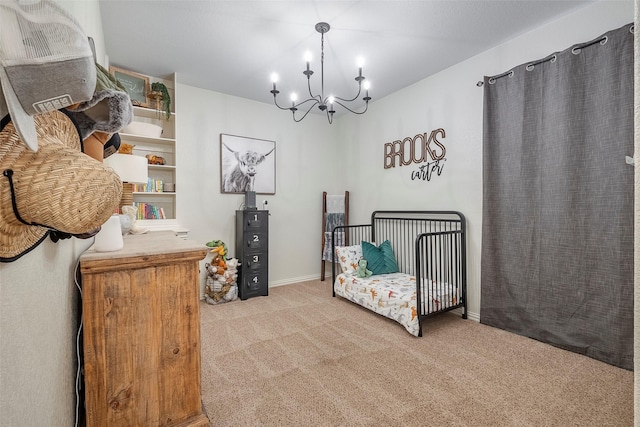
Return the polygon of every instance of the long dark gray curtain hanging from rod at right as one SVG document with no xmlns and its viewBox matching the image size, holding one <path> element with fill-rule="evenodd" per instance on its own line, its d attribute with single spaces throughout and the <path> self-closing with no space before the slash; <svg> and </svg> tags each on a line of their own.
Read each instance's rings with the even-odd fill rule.
<svg viewBox="0 0 640 427">
<path fill-rule="evenodd" d="M 632 31 L 484 80 L 481 322 L 625 369 Z"/>
</svg>

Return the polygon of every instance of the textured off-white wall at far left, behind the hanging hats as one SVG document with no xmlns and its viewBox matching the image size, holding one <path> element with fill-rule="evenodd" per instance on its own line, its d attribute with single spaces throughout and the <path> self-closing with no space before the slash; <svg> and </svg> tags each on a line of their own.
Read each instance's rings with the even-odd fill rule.
<svg viewBox="0 0 640 427">
<path fill-rule="evenodd" d="M 104 52 L 98 3 L 59 1 Z M 101 50 L 100 50 L 101 49 Z M 104 54 L 102 53 L 102 56 Z M 0 264 L 0 424 L 71 426 L 79 293 L 74 271 L 93 239 L 46 239 Z"/>
</svg>

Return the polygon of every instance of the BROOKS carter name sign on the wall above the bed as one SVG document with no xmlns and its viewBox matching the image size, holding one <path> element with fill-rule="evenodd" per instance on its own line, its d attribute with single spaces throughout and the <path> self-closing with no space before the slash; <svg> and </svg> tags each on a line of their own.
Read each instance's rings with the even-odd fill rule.
<svg viewBox="0 0 640 427">
<path fill-rule="evenodd" d="M 411 172 L 412 180 L 430 181 L 434 173 L 439 176 L 447 161 L 447 149 L 438 137 L 445 138 L 444 129 L 434 129 L 430 134 L 419 133 L 413 138 L 408 136 L 402 140 L 387 142 L 384 144 L 384 168 L 423 163 Z"/>
</svg>

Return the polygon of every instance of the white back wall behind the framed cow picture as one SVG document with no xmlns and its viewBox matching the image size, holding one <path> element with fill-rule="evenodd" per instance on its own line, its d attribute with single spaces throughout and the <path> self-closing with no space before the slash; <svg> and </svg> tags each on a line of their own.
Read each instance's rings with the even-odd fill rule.
<svg viewBox="0 0 640 427">
<path fill-rule="evenodd" d="M 180 75 L 177 76 L 178 81 Z M 189 238 L 222 240 L 235 254 L 235 211 L 244 195 L 220 192 L 220 134 L 276 142 L 276 194 L 268 201 L 269 283 L 311 280 L 320 275 L 322 192 L 344 192 L 335 162 L 342 141 L 326 118 L 300 123 L 275 106 L 178 84 L 177 216 Z M 204 262 L 208 261 L 207 258 Z M 201 287 L 205 272 L 201 269 Z"/>
</svg>

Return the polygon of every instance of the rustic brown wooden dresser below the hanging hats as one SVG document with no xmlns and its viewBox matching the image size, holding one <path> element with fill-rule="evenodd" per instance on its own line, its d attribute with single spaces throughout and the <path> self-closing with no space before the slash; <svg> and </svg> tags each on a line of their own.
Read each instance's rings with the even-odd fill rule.
<svg viewBox="0 0 640 427">
<path fill-rule="evenodd" d="M 80 257 L 87 426 L 208 426 L 200 395 L 199 261 L 173 232 Z"/>
</svg>

